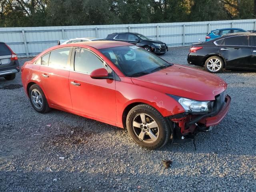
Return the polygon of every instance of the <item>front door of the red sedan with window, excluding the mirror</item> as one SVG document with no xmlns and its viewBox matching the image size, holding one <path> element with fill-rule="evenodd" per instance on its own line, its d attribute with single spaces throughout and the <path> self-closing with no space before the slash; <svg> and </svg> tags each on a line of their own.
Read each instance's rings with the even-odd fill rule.
<svg viewBox="0 0 256 192">
<path fill-rule="evenodd" d="M 90 50 L 74 49 L 72 54 L 69 86 L 73 110 L 103 120 L 116 123 L 115 80 L 92 79 L 90 73 L 98 68 L 108 67 Z M 108 70 L 111 70 L 108 67 Z"/>
</svg>

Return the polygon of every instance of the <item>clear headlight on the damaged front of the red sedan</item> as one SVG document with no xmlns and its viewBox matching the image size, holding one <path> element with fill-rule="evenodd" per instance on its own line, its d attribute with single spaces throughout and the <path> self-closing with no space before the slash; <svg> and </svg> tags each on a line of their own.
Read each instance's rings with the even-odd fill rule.
<svg viewBox="0 0 256 192">
<path fill-rule="evenodd" d="M 168 95 L 177 100 L 186 112 L 209 112 L 212 106 L 210 101 L 196 101 L 170 94 Z"/>
</svg>

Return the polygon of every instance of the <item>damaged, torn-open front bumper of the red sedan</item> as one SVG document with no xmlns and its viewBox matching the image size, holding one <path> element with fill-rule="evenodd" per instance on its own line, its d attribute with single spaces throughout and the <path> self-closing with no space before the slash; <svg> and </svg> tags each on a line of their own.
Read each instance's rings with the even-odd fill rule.
<svg viewBox="0 0 256 192">
<path fill-rule="evenodd" d="M 209 131 L 211 126 L 219 124 L 228 113 L 230 101 L 230 96 L 226 95 L 224 103 L 216 104 L 215 109 L 207 114 L 182 113 L 167 117 L 168 123 L 172 128 L 173 142 L 187 142 L 187 140 L 194 138 L 194 134 L 197 132 Z"/>
</svg>

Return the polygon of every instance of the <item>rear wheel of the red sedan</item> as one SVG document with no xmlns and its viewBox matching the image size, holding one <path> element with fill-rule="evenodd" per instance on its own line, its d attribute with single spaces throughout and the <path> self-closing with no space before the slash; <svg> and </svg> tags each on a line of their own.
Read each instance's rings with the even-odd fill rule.
<svg viewBox="0 0 256 192">
<path fill-rule="evenodd" d="M 47 113 L 50 111 L 50 107 L 40 86 L 33 84 L 29 88 L 28 95 L 34 110 L 39 113 Z"/>
</svg>

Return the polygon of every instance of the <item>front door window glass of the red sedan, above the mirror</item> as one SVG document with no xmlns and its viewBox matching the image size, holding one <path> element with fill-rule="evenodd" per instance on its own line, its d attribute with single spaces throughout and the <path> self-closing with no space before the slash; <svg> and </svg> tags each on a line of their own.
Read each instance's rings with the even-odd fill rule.
<svg viewBox="0 0 256 192">
<path fill-rule="evenodd" d="M 90 74 L 93 70 L 103 68 L 104 63 L 92 52 L 77 49 L 74 58 L 74 70 Z"/>
</svg>

